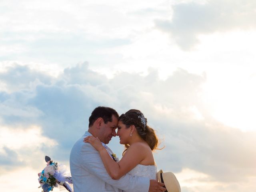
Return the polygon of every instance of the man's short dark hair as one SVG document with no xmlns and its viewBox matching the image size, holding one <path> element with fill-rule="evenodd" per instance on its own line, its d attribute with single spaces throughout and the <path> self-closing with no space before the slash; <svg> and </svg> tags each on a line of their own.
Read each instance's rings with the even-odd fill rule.
<svg viewBox="0 0 256 192">
<path fill-rule="evenodd" d="M 100 117 L 104 120 L 104 123 L 112 122 L 112 115 L 114 115 L 117 119 L 119 117 L 116 110 L 110 107 L 102 107 L 102 106 L 96 107 L 92 111 L 91 116 L 89 117 L 89 127 L 92 126 L 94 122 Z"/>
</svg>

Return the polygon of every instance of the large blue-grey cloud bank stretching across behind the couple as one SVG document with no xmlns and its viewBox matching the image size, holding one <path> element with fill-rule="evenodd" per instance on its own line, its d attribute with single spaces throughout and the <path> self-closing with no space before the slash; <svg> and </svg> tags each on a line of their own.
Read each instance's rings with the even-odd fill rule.
<svg viewBox="0 0 256 192">
<path fill-rule="evenodd" d="M 23 79 L 14 84 L 6 74 Z M 108 79 L 90 70 L 85 62 L 64 69 L 56 78 L 14 65 L 0 74 L 0 80 L 14 87 L 12 92 L 0 93 L 1 111 L 9 109 L 1 113 L 2 123 L 14 130 L 17 124 L 23 130 L 29 124 L 40 127 L 43 138 L 58 143 L 40 150 L 48 150 L 52 159 L 68 160 L 72 145 L 88 128 L 91 111 L 101 105 L 113 107 L 120 114 L 130 108 L 144 112 L 149 125 L 164 138 L 166 148 L 155 155 L 159 168 L 195 170 L 208 175 L 210 182 L 246 180 L 255 175 L 255 132 L 226 127 L 209 115 L 201 98 L 206 74 L 178 68 L 166 80 L 160 80 L 158 71 L 151 68 L 146 76 L 118 72 Z M 16 104 L 27 115 L 22 110 L 17 112 Z M 123 147 L 117 142 L 113 139 L 110 147 L 121 154 Z"/>
</svg>

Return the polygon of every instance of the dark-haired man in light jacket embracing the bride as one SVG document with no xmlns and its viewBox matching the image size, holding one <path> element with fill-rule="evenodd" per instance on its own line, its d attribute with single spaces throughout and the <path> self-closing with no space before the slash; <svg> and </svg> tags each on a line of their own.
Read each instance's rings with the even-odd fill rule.
<svg viewBox="0 0 256 192">
<path fill-rule="evenodd" d="M 88 131 L 74 144 L 70 152 L 70 171 L 74 192 L 122 192 L 122 190 L 160 192 L 166 190 L 162 187 L 163 183 L 129 174 L 119 180 L 112 180 L 98 151 L 90 143 L 83 142 L 86 136 L 98 137 L 111 155 L 112 151 L 106 144 L 110 142 L 112 136 L 116 136 L 117 124 L 118 113 L 116 110 L 99 106 L 92 111 Z"/>
</svg>

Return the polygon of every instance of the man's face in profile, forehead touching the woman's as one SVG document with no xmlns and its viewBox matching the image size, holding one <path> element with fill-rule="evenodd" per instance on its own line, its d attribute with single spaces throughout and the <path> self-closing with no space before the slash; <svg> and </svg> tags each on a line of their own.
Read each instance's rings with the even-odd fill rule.
<svg viewBox="0 0 256 192">
<path fill-rule="evenodd" d="M 112 136 L 116 136 L 116 128 L 118 124 L 118 119 L 112 115 L 112 122 L 104 123 L 102 122 L 100 133 L 99 133 L 99 139 L 101 142 L 108 144 L 112 138 Z"/>
</svg>

